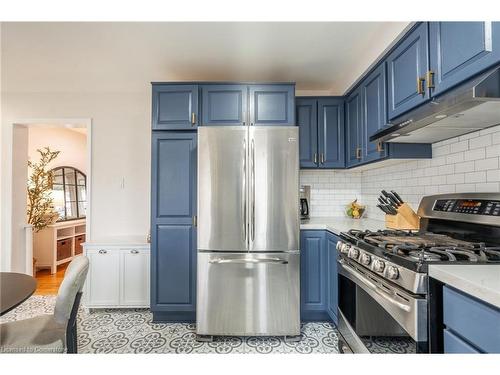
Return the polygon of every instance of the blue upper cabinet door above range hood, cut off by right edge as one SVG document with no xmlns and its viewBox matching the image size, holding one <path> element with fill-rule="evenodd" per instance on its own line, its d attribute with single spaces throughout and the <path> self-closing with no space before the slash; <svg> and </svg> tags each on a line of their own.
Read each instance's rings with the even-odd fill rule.
<svg viewBox="0 0 500 375">
<path fill-rule="evenodd" d="M 429 28 L 432 95 L 500 62 L 500 22 L 430 22 Z"/>
</svg>

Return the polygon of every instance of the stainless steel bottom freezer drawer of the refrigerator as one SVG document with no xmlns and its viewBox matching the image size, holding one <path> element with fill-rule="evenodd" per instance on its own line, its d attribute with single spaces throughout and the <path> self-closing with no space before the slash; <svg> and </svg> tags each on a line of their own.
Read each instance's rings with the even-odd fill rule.
<svg viewBox="0 0 500 375">
<path fill-rule="evenodd" d="M 298 253 L 198 253 L 199 335 L 300 334 Z"/>
</svg>

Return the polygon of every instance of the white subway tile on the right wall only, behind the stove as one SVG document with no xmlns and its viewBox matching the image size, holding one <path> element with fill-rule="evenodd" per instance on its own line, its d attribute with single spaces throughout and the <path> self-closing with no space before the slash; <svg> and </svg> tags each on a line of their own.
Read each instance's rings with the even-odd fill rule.
<svg viewBox="0 0 500 375">
<path fill-rule="evenodd" d="M 396 190 L 415 210 L 425 195 L 500 192 L 500 126 L 435 143 L 432 154 L 432 159 L 363 171 L 367 215 L 383 218 L 376 207 L 382 189 Z"/>
</svg>

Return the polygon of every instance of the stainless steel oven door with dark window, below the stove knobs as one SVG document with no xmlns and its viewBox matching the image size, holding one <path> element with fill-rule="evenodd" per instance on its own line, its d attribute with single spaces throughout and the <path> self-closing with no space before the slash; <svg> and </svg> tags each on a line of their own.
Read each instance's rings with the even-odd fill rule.
<svg viewBox="0 0 500 375">
<path fill-rule="evenodd" d="M 341 350 L 427 352 L 427 300 L 342 256 L 339 269 Z"/>
</svg>

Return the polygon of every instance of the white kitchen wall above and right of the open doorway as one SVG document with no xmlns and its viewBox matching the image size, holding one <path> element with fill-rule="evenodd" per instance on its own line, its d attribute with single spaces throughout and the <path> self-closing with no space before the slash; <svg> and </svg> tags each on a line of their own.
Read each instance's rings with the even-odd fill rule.
<svg viewBox="0 0 500 375">
<path fill-rule="evenodd" d="M 93 240 L 149 230 L 151 93 L 8 92 L 2 123 L 26 118 L 92 119 Z M 7 126 L 2 126 L 7 133 Z M 5 159 L 4 159 L 5 160 Z M 2 198 L 3 199 L 3 198 Z"/>
</svg>

